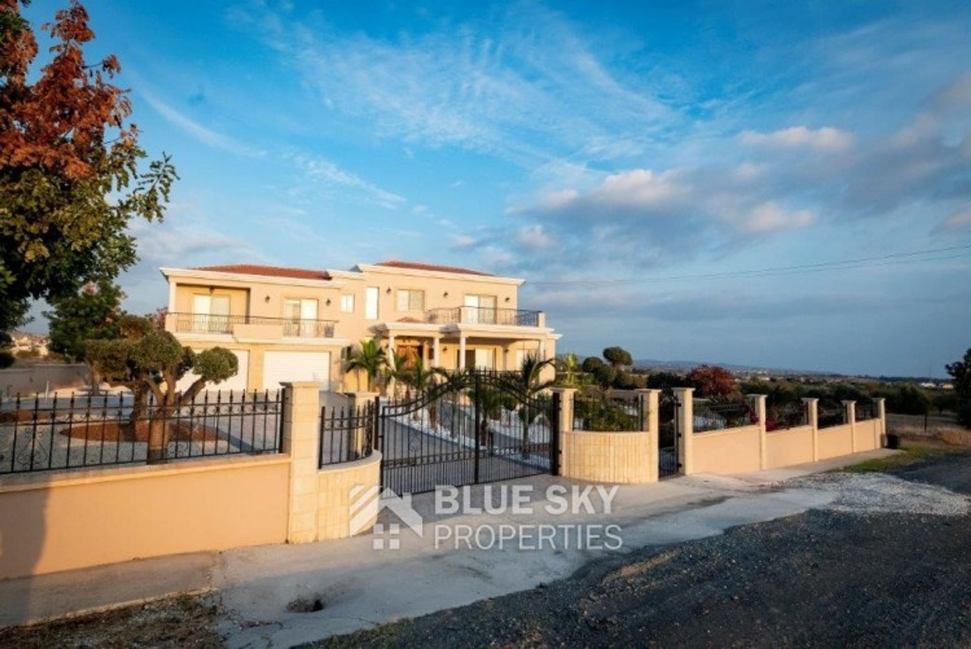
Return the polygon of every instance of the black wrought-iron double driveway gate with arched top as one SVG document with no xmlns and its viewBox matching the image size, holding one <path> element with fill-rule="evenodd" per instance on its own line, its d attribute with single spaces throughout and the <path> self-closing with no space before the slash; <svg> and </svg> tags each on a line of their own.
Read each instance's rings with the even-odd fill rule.
<svg viewBox="0 0 971 649">
<path fill-rule="evenodd" d="M 559 394 L 533 393 L 515 372 L 455 372 L 427 391 L 382 399 L 382 487 L 508 480 L 558 470 Z"/>
</svg>

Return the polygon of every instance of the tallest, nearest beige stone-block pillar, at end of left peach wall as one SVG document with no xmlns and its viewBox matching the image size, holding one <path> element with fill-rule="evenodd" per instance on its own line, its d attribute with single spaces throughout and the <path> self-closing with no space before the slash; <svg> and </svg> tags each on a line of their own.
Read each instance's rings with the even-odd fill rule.
<svg viewBox="0 0 971 649">
<path fill-rule="evenodd" d="M 281 451 L 290 456 L 289 516 L 286 540 L 317 540 L 320 385 L 294 381 L 284 387 Z"/>
</svg>

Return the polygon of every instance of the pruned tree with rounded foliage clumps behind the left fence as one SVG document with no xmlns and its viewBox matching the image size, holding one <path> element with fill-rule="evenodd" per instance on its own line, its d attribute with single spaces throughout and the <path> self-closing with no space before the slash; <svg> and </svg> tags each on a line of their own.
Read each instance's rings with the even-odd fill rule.
<svg viewBox="0 0 971 649">
<path fill-rule="evenodd" d="M 154 397 L 149 418 L 149 461 L 164 461 L 172 413 L 191 404 L 207 384 L 235 376 L 239 360 L 221 347 L 196 353 L 170 332 L 154 328 L 145 318 L 127 317 L 121 329 L 124 338 L 89 341 L 87 362 L 109 385 L 134 393 L 132 432 L 145 418 L 149 395 Z M 189 371 L 198 378 L 180 392 L 177 384 Z"/>
</svg>

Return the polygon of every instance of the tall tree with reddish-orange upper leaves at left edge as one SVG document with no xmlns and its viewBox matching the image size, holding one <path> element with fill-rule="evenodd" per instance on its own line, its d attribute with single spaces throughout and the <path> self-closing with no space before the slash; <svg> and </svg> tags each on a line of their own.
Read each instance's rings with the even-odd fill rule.
<svg viewBox="0 0 971 649">
<path fill-rule="evenodd" d="M 94 39 L 77 0 L 42 26 L 50 61 L 20 15 L 0 0 L 0 330 L 22 324 L 31 298 L 110 281 L 137 259 L 132 219 L 161 220 L 178 179 L 167 155 L 140 165 L 128 91 L 115 56 L 84 61 Z"/>
</svg>

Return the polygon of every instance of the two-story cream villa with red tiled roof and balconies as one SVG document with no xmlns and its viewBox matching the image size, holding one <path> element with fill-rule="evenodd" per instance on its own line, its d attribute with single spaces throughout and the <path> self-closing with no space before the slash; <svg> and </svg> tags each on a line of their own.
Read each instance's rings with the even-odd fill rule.
<svg viewBox="0 0 971 649">
<path fill-rule="evenodd" d="M 350 271 L 250 264 L 162 268 L 165 328 L 184 345 L 239 358 L 219 390 L 275 390 L 319 381 L 358 390 L 351 350 L 377 339 L 390 351 L 447 369 L 513 369 L 526 354 L 552 358 L 560 334 L 542 311 L 519 309 L 523 280 L 405 261 Z M 186 379 L 188 380 L 188 377 Z"/>
</svg>

